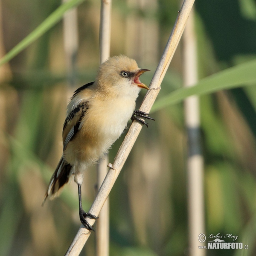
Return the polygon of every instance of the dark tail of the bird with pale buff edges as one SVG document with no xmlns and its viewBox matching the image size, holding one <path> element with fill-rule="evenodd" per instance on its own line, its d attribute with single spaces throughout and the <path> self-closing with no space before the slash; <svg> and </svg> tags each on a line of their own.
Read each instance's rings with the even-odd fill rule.
<svg viewBox="0 0 256 256">
<path fill-rule="evenodd" d="M 47 197 L 49 197 L 50 200 L 60 195 L 61 190 L 63 189 L 64 185 L 68 183 L 71 176 L 71 169 L 72 165 L 69 163 L 66 163 L 64 158 L 61 157 L 61 160 L 58 163 L 58 166 L 53 173 L 51 180 L 49 182 L 49 185 L 47 187 L 47 191 L 44 196 L 44 202 L 46 201 Z"/>
</svg>

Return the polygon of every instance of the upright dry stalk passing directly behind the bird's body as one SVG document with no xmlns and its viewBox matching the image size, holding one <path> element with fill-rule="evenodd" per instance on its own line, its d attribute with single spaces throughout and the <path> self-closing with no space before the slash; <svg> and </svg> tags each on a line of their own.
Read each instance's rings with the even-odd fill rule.
<svg viewBox="0 0 256 256">
<path fill-rule="evenodd" d="M 100 63 L 108 59 L 110 56 L 110 39 L 111 39 L 111 0 L 101 1 L 100 10 L 100 29 L 99 29 L 99 47 L 100 47 Z M 97 184 L 98 189 L 102 185 L 108 173 L 108 154 L 100 159 L 97 165 Z M 109 255 L 109 199 L 99 213 L 96 229 L 96 256 Z"/>
</svg>

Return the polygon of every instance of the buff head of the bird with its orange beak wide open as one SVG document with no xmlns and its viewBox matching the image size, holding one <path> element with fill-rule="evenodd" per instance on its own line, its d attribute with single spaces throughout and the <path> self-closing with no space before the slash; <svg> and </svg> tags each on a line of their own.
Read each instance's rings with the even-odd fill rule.
<svg viewBox="0 0 256 256">
<path fill-rule="evenodd" d="M 141 88 L 149 88 L 140 81 L 147 69 L 140 69 L 134 59 L 124 55 L 108 58 L 100 67 L 97 76 L 99 86 L 116 93 L 136 95 Z"/>
</svg>

